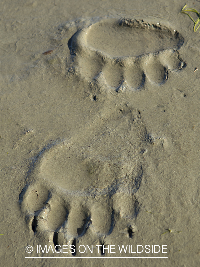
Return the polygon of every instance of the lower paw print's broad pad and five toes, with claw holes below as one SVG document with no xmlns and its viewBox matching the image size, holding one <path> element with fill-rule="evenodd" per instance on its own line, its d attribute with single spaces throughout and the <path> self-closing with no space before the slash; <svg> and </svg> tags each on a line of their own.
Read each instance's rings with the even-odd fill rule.
<svg viewBox="0 0 200 267">
<path fill-rule="evenodd" d="M 139 136 L 145 138 L 145 133 Z M 76 245 L 83 238 L 103 242 L 119 220 L 131 225 L 139 211 L 134 194 L 143 177 L 143 147 L 137 143 L 135 149 L 136 138 L 131 143 L 123 140 L 104 132 L 101 142 L 61 142 L 43 149 L 33 159 L 29 183 L 20 193 L 30 231 L 55 246 Z"/>
</svg>

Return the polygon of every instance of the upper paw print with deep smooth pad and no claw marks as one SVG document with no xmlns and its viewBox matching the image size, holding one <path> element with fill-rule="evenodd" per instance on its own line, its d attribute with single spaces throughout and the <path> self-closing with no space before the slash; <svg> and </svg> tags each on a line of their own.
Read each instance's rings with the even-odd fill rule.
<svg viewBox="0 0 200 267">
<path fill-rule="evenodd" d="M 68 42 L 73 65 L 97 90 L 137 90 L 161 85 L 186 66 L 178 50 L 183 37 L 159 23 L 107 19 L 76 32 Z M 92 77 L 92 79 L 91 79 Z"/>
</svg>

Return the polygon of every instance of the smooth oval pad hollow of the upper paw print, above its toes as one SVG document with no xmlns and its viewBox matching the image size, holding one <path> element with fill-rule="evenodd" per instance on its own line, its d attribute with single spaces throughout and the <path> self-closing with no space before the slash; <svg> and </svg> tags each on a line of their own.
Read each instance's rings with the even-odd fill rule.
<svg viewBox="0 0 200 267">
<path fill-rule="evenodd" d="M 156 25 L 130 27 L 103 21 L 90 26 L 87 45 L 111 56 L 138 56 L 178 45 L 180 38 L 167 28 Z"/>
</svg>

